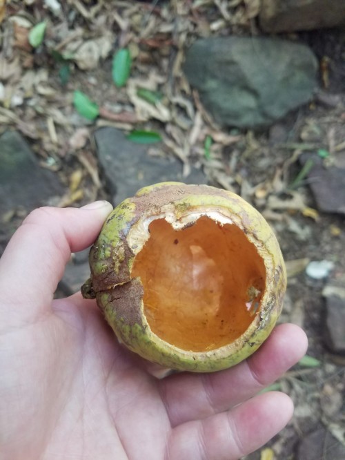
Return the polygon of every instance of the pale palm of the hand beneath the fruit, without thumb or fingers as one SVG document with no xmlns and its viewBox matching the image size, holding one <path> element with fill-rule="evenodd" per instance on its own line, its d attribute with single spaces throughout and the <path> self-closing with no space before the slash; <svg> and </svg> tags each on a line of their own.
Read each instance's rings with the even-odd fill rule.
<svg viewBox="0 0 345 460">
<path fill-rule="evenodd" d="M 164 459 L 170 421 L 159 382 L 117 345 L 93 302 L 57 300 L 48 317 L 13 334 L 21 387 L 7 400 L 26 458 Z M 18 439 L 11 447 L 6 458 L 23 459 Z"/>
</svg>

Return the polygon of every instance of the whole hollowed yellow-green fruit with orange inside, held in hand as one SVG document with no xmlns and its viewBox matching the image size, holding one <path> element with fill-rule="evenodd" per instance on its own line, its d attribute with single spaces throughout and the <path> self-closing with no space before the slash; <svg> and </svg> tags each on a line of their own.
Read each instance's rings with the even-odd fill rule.
<svg viewBox="0 0 345 460">
<path fill-rule="evenodd" d="M 286 271 L 262 215 L 234 193 L 163 182 L 112 211 L 90 251 L 85 297 L 117 338 L 164 367 L 244 360 L 282 309 Z"/>
</svg>

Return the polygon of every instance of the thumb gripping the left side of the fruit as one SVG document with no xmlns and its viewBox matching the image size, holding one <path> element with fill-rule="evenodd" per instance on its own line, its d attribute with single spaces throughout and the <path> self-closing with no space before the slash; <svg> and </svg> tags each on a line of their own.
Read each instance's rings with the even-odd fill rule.
<svg viewBox="0 0 345 460">
<path fill-rule="evenodd" d="M 111 211 L 110 203 L 99 201 L 28 215 L 0 259 L 0 324 L 10 318 L 26 323 L 50 308 L 71 252 L 95 241 Z"/>
</svg>

